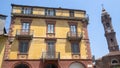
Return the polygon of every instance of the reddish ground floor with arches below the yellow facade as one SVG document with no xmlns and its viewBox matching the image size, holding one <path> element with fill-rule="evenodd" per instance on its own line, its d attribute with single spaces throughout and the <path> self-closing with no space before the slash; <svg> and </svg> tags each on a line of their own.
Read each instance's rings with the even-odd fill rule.
<svg viewBox="0 0 120 68">
<path fill-rule="evenodd" d="M 93 68 L 92 60 L 4 60 L 2 68 Z"/>
</svg>

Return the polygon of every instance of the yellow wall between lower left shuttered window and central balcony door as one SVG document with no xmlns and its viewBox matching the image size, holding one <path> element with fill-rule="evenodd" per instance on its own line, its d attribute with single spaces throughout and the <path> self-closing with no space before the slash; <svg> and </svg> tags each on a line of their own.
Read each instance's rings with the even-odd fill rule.
<svg viewBox="0 0 120 68">
<path fill-rule="evenodd" d="M 39 59 L 42 52 L 46 52 L 46 43 L 44 39 L 33 39 L 29 49 L 29 59 Z"/>
</svg>

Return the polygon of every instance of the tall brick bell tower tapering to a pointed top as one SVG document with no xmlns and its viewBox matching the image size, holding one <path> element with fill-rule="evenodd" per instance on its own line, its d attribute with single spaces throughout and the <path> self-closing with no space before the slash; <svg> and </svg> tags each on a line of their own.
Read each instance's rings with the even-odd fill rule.
<svg viewBox="0 0 120 68">
<path fill-rule="evenodd" d="M 111 17 L 104 8 L 102 9 L 101 20 L 104 26 L 105 37 L 108 43 L 109 52 L 119 51 L 119 46 L 116 40 L 116 32 L 114 32 Z"/>
</svg>

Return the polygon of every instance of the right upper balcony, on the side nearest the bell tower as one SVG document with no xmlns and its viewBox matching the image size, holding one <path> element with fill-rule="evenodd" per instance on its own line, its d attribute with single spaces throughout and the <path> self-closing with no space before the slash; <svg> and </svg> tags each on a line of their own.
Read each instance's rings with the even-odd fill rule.
<svg viewBox="0 0 120 68">
<path fill-rule="evenodd" d="M 68 32 L 67 33 L 67 39 L 69 41 L 80 41 L 82 39 L 82 33 L 81 32 Z"/>
</svg>

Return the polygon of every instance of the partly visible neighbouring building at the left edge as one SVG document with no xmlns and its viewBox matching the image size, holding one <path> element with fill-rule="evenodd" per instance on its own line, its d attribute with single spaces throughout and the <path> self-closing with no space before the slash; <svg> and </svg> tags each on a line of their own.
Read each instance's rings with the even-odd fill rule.
<svg viewBox="0 0 120 68">
<path fill-rule="evenodd" d="M 5 43 L 7 40 L 6 30 L 5 30 L 5 21 L 6 16 L 0 14 L 0 68 L 2 65 L 3 55 L 4 55 L 4 49 L 5 49 Z"/>
</svg>

